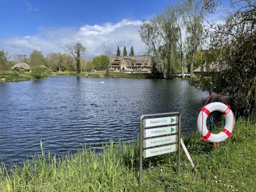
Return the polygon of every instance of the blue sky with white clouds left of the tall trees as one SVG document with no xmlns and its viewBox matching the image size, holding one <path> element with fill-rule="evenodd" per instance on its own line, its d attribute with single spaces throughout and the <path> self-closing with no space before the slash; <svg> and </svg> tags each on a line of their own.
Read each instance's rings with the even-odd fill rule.
<svg viewBox="0 0 256 192">
<path fill-rule="evenodd" d="M 154 1 L 0 1 L 0 49 L 27 54 L 38 49 L 45 55 L 65 52 L 66 43 L 81 42 L 86 57 L 134 47 L 143 54 L 145 46 L 137 30 L 142 19 L 150 19 L 167 0 Z"/>
</svg>

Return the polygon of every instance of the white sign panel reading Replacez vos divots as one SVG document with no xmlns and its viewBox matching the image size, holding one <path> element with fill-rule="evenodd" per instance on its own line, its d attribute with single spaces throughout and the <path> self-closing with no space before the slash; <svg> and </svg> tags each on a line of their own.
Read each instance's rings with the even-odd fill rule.
<svg viewBox="0 0 256 192">
<path fill-rule="evenodd" d="M 175 143 L 177 142 L 178 135 L 171 135 L 171 136 L 166 136 L 166 137 L 155 137 L 152 139 L 145 139 L 143 141 L 143 147 L 154 147 L 157 145 L 165 145 L 168 143 Z"/>
</svg>

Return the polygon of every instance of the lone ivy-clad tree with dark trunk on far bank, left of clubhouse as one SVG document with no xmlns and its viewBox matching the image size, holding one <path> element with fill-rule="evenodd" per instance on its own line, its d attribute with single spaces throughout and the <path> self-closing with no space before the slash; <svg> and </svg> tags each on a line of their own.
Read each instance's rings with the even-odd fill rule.
<svg viewBox="0 0 256 192">
<path fill-rule="evenodd" d="M 81 67 L 80 67 L 80 56 L 85 54 L 86 48 L 82 45 L 82 43 L 76 43 L 75 45 L 72 45 L 71 43 L 66 44 L 66 51 L 74 56 L 76 59 L 76 68 L 77 68 L 77 74 L 81 73 Z"/>
</svg>

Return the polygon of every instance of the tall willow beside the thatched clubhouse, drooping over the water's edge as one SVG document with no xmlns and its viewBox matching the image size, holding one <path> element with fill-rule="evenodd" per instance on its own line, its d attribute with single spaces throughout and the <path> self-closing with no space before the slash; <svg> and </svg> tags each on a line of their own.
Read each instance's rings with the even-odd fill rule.
<svg viewBox="0 0 256 192">
<path fill-rule="evenodd" d="M 146 44 L 148 53 L 153 53 L 155 71 L 162 74 L 164 78 L 171 78 L 174 74 L 177 63 L 175 40 L 177 32 L 168 5 L 150 21 L 143 20 L 139 30 L 141 40 Z"/>
</svg>

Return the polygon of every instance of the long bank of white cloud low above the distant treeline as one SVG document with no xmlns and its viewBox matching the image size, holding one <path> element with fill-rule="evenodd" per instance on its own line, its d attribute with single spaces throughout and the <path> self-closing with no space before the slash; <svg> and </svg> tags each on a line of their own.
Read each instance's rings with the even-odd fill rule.
<svg viewBox="0 0 256 192">
<path fill-rule="evenodd" d="M 10 54 L 27 55 L 33 49 L 38 49 L 46 55 L 51 51 L 65 52 L 67 43 L 81 42 L 87 48 L 85 57 L 88 58 L 103 54 L 105 50 L 115 53 L 117 46 L 121 49 L 121 54 L 124 46 L 128 53 L 130 47 L 133 46 L 135 54 L 139 55 L 146 51 L 138 33 L 141 23 L 139 20 L 123 19 L 118 23 L 84 25 L 79 29 L 74 27 L 40 28 L 38 34 L 34 36 L 0 38 L 0 49 L 7 50 Z"/>
</svg>

